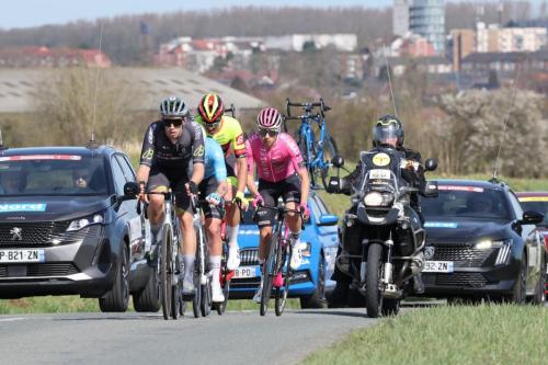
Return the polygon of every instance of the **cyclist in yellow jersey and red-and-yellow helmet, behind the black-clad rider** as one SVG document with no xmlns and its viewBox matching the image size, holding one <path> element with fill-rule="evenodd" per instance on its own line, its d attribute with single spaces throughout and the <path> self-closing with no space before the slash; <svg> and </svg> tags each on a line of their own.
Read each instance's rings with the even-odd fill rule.
<svg viewBox="0 0 548 365">
<path fill-rule="evenodd" d="M 202 124 L 208 137 L 215 139 L 225 152 L 227 175 L 232 189 L 225 195 L 225 201 L 232 203 L 239 199 L 244 208 L 247 201 L 243 192 L 248 179 L 248 161 L 246 158 L 246 139 L 240 122 L 228 115 L 224 115 L 225 105 L 217 94 L 206 94 L 198 105 L 196 122 Z M 228 270 L 235 270 L 240 265 L 240 249 L 238 246 L 238 229 L 240 227 L 240 210 L 237 204 L 227 206 L 228 238 Z"/>
</svg>

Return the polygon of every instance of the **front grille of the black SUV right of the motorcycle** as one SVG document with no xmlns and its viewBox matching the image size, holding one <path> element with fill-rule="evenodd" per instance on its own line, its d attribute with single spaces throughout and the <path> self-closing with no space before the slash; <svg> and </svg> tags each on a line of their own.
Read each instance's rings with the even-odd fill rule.
<svg viewBox="0 0 548 365">
<path fill-rule="evenodd" d="M 470 243 L 433 244 L 432 261 L 453 261 L 455 267 L 481 267 L 493 250 L 476 250 Z"/>
</svg>

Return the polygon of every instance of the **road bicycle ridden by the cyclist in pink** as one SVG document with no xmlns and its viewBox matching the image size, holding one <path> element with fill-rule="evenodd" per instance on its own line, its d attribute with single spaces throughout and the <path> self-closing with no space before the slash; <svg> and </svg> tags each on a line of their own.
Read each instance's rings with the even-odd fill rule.
<svg viewBox="0 0 548 365">
<path fill-rule="evenodd" d="M 276 212 L 276 226 L 272 231 L 271 240 L 269 243 L 269 252 L 266 254 L 266 260 L 263 265 L 263 288 L 261 293 L 261 316 L 266 315 L 269 309 L 269 301 L 272 296 L 272 289 L 274 289 L 274 310 L 276 316 L 282 316 L 287 303 L 287 296 L 289 294 L 289 282 L 292 281 L 293 270 L 289 266 L 292 261 L 292 244 L 289 238 L 289 228 L 285 221 L 286 215 L 288 213 L 294 213 L 300 215 L 301 221 L 304 224 L 304 213 L 297 209 L 288 209 L 283 204 L 277 206 L 258 205 L 258 209 L 253 216 L 256 220 L 256 214 L 259 208 L 271 209 Z M 283 282 L 274 283 L 274 278 L 281 274 Z"/>
</svg>

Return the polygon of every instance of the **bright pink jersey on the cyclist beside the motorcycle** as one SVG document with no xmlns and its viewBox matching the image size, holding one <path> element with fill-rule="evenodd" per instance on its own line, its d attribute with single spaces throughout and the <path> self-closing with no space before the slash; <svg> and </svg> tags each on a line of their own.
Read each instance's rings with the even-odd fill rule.
<svg viewBox="0 0 548 365">
<path fill-rule="evenodd" d="M 271 148 L 263 145 L 261 136 L 252 134 L 246 141 L 248 171 L 256 163 L 259 179 L 278 182 L 296 173 L 302 166 L 299 146 L 288 134 L 281 133 Z"/>
</svg>

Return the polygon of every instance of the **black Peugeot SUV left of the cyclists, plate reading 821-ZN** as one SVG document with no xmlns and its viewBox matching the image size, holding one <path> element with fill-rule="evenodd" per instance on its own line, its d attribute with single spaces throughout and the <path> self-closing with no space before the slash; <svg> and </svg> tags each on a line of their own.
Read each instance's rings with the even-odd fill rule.
<svg viewBox="0 0 548 365">
<path fill-rule="evenodd" d="M 124 197 L 135 172 L 107 146 L 0 150 L 0 298 L 99 298 L 102 311 L 159 309 L 147 221 Z"/>
</svg>

